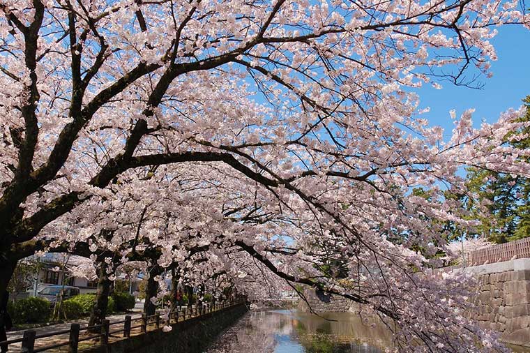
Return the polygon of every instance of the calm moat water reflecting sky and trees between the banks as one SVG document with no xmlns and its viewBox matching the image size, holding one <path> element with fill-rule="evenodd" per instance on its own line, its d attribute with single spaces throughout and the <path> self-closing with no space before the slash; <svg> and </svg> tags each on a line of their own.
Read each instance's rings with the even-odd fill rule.
<svg viewBox="0 0 530 353">
<path fill-rule="evenodd" d="M 388 347 L 391 342 L 384 328 L 374 322 L 363 322 L 356 315 L 323 316 L 290 310 L 253 311 L 207 352 L 379 353 L 382 352 L 379 347 Z"/>
</svg>

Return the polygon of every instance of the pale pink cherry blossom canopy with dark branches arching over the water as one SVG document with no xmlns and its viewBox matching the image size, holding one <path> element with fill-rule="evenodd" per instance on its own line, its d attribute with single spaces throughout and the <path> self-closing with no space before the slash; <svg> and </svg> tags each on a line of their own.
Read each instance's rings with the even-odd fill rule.
<svg viewBox="0 0 530 353">
<path fill-rule="evenodd" d="M 37 250 L 154 251 L 165 268 L 206 247 L 212 274 L 269 271 L 363 304 L 402 352 L 502 350 L 462 315 L 456 274 L 423 272 L 444 246 L 426 220 L 468 224 L 444 200 L 463 166 L 529 177 L 501 143 L 523 112 L 478 129 L 466 112 L 444 141 L 414 89 L 479 84 L 494 27 L 528 24 L 518 1 L 0 10 L 0 292 Z"/>
</svg>

